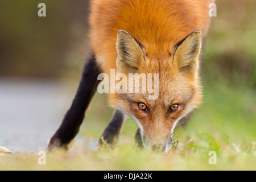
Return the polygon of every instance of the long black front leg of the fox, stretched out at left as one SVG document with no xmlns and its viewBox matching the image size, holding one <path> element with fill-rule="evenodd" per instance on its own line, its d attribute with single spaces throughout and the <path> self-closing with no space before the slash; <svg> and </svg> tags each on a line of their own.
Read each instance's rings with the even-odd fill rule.
<svg viewBox="0 0 256 182">
<path fill-rule="evenodd" d="M 97 89 L 99 82 L 97 80 L 98 74 L 100 74 L 100 68 L 96 64 L 94 54 L 90 53 L 84 65 L 79 88 L 77 89 L 72 105 L 65 114 L 59 129 L 49 140 L 49 150 L 53 147 L 67 148 L 67 144 L 75 138 L 76 134 L 79 132 L 80 125 L 84 119 L 85 110 Z"/>
</svg>

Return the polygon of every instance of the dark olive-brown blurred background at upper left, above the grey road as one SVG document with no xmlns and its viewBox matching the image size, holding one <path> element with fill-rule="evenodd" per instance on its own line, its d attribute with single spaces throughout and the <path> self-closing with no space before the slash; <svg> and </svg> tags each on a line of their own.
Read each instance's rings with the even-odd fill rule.
<svg viewBox="0 0 256 182">
<path fill-rule="evenodd" d="M 47 17 L 38 16 L 40 2 L 46 4 Z M 77 69 L 88 49 L 88 3 L 1 1 L 0 76 L 59 78 Z"/>
</svg>

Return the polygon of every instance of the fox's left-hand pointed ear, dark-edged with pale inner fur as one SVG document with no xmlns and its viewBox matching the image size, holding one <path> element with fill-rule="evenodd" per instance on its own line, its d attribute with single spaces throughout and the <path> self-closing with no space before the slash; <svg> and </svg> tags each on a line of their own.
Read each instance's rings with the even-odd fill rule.
<svg viewBox="0 0 256 182">
<path fill-rule="evenodd" d="M 123 73 L 137 73 L 144 63 L 142 45 L 128 32 L 117 35 L 117 69 Z"/>
</svg>

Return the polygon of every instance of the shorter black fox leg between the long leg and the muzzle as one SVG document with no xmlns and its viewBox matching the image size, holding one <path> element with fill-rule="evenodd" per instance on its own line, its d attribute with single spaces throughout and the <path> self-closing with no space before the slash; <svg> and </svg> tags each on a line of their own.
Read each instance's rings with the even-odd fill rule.
<svg viewBox="0 0 256 182">
<path fill-rule="evenodd" d="M 104 141 L 109 144 L 114 144 L 121 133 L 123 123 L 127 120 L 127 115 L 124 115 L 120 110 L 115 110 L 114 116 L 109 122 L 109 125 L 104 130 L 102 134 Z M 99 144 L 103 143 L 100 138 Z"/>
</svg>

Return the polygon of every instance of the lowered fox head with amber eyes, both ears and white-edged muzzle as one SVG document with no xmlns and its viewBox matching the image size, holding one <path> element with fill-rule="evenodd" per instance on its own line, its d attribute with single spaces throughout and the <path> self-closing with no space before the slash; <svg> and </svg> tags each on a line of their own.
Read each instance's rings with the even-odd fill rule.
<svg viewBox="0 0 256 182">
<path fill-rule="evenodd" d="M 132 35 L 123 30 L 118 32 L 117 72 L 127 77 L 131 73 L 152 74 L 151 80 L 128 85 L 127 89 L 134 90 L 137 86 L 143 91 L 147 88 L 143 84 L 151 84 L 158 92 L 158 96 L 153 99 L 148 90 L 115 94 L 112 102 L 112 105 L 137 122 L 137 141 L 144 147 L 169 151 L 175 126 L 200 104 L 200 48 L 201 32 L 194 31 L 171 47 L 172 53 L 162 57 L 148 56 L 147 50 Z M 154 77 L 155 73 L 158 78 Z"/>
</svg>

